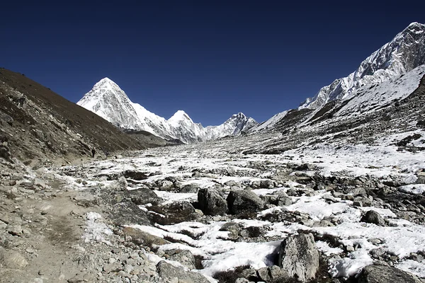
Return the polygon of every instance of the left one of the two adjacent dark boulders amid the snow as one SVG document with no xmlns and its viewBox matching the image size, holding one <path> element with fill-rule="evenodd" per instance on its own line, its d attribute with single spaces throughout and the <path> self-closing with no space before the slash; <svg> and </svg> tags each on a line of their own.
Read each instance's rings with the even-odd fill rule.
<svg viewBox="0 0 425 283">
<path fill-rule="evenodd" d="M 203 188 L 198 191 L 200 210 L 208 215 L 223 215 L 227 212 L 227 202 L 218 190 Z"/>
</svg>

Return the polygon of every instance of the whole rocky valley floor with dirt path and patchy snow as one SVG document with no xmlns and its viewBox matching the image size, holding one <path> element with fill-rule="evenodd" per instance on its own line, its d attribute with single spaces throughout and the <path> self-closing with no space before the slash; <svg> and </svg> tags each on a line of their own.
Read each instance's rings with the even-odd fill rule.
<svg viewBox="0 0 425 283">
<path fill-rule="evenodd" d="M 421 134 L 246 154 L 278 136 L 2 163 L 0 282 L 425 282 Z"/>
</svg>

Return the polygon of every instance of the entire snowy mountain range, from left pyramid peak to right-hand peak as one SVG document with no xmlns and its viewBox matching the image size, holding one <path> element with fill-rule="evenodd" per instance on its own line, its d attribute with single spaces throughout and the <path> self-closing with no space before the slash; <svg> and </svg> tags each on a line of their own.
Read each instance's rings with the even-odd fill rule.
<svg viewBox="0 0 425 283">
<path fill-rule="evenodd" d="M 242 132 L 282 129 L 283 125 L 288 126 L 288 120 L 292 121 L 289 124 L 293 127 L 296 127 L 294 121 L 300 123 L 297 126 L 301 126 L 314 120 L 318 112 L 329 112 L 329 108 L 334 108 L 342 101 L 347 104 L 351 100 L 344 109 L 371 110 L 391 100 L 408 96 L 419 85 L 423 69 L 416 68 L 422 64 L 425 64 L 425 25 L 415 22 L 373 52 L 361 62 L 356 71 L 324 86 L 315 96 L 301 103 L 299 108 L 280 112 L 261 124 L 240 112 L 219 126 L 203 127 L 193 122 L 182 110 L 166 120 L 149 112 L 142 105 L 132 103 L 125 92 L 108 78 L 96 83 L 77 104 L 122 129 L 143 130 L 164 139 L 193 143 Z M 412 76 L 407 76 L 409 79 L 402 78 L 415 69 Z M 382 83 L 384 84 L 380 86 Z M 377 87 L 373 90 L 375 86 Z M 393 91 L 395 89 L 397 91 Z M 350 115 L 349 111 L 334 109 L 331 112 L 331 115 L 336 116 Z M 294 115 L 297 117 L 295 120 Z"/>
</svg>

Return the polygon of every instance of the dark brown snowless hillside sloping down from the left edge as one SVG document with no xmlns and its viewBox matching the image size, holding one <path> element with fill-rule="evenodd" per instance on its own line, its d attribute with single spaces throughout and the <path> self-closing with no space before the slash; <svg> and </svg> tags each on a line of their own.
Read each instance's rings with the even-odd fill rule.
<svg viewBox="0 0 425 283">
<path fill-rule="evenodd" d="M 146 145 L 49 88 L 6 69 L 0 69 L 0 141 L 6 159 L 16 157 L 28 164 L 37 159 L 90 156 L 92 148 L 103 154 Z"/>
</svg>

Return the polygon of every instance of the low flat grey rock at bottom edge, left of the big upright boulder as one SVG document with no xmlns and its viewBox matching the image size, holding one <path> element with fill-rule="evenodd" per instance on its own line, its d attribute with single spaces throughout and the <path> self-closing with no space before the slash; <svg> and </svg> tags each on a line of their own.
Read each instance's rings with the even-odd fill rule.
<svg viewBox="0 0 425 283">
<path fill-rule="evenodd" d="M 207 278 L 203 277 L 203 275 L 196 272 L 184 271 L 179 267 L 170 265 L 164 260 L 157 264 L 157 272 L 159 273 L 159 277 L 164 280 L 169 280 L 169 282 L 210 283 Z"/>
</svg>

